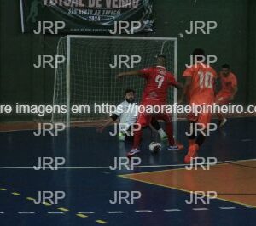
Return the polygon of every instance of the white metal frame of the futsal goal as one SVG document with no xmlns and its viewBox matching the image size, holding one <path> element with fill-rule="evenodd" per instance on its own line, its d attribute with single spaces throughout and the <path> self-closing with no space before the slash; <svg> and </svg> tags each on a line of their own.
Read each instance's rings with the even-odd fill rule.
<svg viewBox="0 0 256 226">
<path fill-rule="evenodd" d="M 61 37 L 65 38 L 65 37 Z M 173 68 L 173 74 L 175 79 L 177 80 L 177 37 L 127 37 L 127 36 L 86 36 L 86 35 L 67 35 L 66 36 L 66 48 L 67 48 L 67 59 L 66 59 L 66 99 L 67 99 L 67 114 L 66 114 L 66 127 L 71 127 L 71 121 L 70 121 L 70 59 L 71 59 L 71 39 L 72 38 L 95 38 L 95 39 L 120 39 L 120 40 L 157 40 L 157 41 L 172 41 L 174 42 L 174 68 Z M 61 42 L 61 39 L 59 42 Z M 59 46 L 58 42 L 58 46 Z M 165 42 L 162 44 L 161 52 L 163 52 Z M 57 48 L 58 52 L 58 48 Z M 55 71 L 55 85 L 56 85 L 56 76 L 57 76 L 57 69 Z M 174 103 L 177 103 L 177 89 L 174 88 L 173 90 L 173 99 Z M 55 105 L 55 88 L 54 88 L 54 96 L 53 96 L 53 103 Z M 177 121 L 177 112 L 173 113 L 173 119 L 174 121 Z M 176 123 L 174 123 L 174 132 L 177 131 Z M 174 133 L 175 134 L 175 133 Z"/>
</svg>

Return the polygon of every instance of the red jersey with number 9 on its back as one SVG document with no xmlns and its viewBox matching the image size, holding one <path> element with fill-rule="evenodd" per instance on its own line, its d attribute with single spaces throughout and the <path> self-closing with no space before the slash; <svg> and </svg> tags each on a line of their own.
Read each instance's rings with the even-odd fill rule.
<svg viewBox="0 0 256 226">
<path fill-rule="evenodd" d="M 168 88 L 177 85 L 174 76 L 165 67 L 157 66 L 140 70 L 146 79 L 142 102 L 166 104 Z"/>
</svg>

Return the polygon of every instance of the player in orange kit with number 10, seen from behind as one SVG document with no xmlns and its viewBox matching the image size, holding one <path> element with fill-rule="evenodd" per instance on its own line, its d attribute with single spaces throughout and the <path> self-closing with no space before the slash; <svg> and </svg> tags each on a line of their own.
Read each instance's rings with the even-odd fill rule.
<svg viewBox="0 0 256 226">
<path fill-rule="evenodd" d="M 214 84 L 217 73 L 212 67 L 206 63 L 202 63 L 205 59 L 204 50 L 196 48 L 193 52 L 194 64 L 190 65 L 184 72 L 186 78 L 183 88 L 183 96 L 185 95 L 189 105 L 212 105 L 214 102 Z M 182 100 L 181 100 L 182 101 Z M 208 123 L 212 120 L 211 112 L 202 112 L 195 114 L 192 112 L 188 116 L 189 120 L 189 151 L 185 156 L 185 163 L 189 163 L 197 156 L 197 151 L 201 144 L 204 143 L 205 134 L 195 131 L 195 123 L 198 127 L 206 130 Z"/>
</svg>

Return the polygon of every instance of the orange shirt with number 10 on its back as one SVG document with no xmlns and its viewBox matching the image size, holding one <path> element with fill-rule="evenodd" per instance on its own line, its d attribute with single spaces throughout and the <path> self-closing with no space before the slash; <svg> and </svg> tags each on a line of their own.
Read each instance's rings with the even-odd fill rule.
<svg viewBox="0 0 256 226">
<path fill-rule="evenodd" d="M 183 72 L 184 77 L 190 76 L 188 102 L 195 105 L 211 105 L 214 102 L 214 84 L 217 73 L 206 64 L 197 63 Z"/>
</svg>

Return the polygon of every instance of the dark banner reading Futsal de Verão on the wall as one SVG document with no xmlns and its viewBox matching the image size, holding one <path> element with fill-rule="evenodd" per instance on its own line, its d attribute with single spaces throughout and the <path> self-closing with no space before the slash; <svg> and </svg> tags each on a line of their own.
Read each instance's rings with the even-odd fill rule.
<svg viewBox="0 0 256 226">
<path fill-rule="evenodd" d="M 153 0 L 20 0 L 20 13 L 22 32 L 38 30 L 39 21 L 63 21 L 66 34 L 108 33 L 119 21 L 149 32 L 154 24 Z"/>
</svg>

